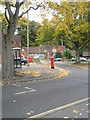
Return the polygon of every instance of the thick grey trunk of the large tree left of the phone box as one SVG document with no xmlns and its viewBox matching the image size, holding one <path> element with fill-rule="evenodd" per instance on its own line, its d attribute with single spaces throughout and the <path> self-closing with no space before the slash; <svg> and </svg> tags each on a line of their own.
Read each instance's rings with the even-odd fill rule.
<svg viewBox="0 0 90 120">
<path fill-rule="evenodd" d="M 3 78 L 5 80 L 11 80 L 14 74 L 14 63 L 13 63 L 13 51 L 12 51 L 12 38 L 16 29 L 16 24 L 10 24 L 8 26 L 7 35 L 4 37 L 3 41 Z"/>
</svg>

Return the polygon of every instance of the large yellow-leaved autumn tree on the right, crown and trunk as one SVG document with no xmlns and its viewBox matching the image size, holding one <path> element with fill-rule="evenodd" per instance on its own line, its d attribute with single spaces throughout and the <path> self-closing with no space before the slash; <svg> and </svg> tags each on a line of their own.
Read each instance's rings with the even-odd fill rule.
<svg viewBox="0 0 90 120">
<path fill-rule="evenodd" d="M 88 2 L 48 2 L 48 6 L 54 10 L 53 16 L 57 21 L 59 31 L 63 24 L 63 29 L 58 32 L 60 36 L 66 38 L 66 42 L 72 49 L 76 50 L 76 62 L 79 63 L 79 52 L 88 46 Z M 67 29 L 65 31 L 65 28 Z M 64 32 L 63 32 L 64 30 Z M 58 35 L 56 34 L 56 36 Z"/>
</svg>

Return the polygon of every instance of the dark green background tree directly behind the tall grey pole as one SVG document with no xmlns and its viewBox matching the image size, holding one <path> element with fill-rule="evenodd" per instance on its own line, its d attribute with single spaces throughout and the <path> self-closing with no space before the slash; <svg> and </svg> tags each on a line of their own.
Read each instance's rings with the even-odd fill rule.
<svg viewBox="0 0 90 120">
<path fill-rule="evenodd" d="M 27 19 L 22 17 L 18 21 L 18 34 L 21 35 L 21 45 L 26 47 L 27 46 Z M 37 46 L 36 42 L 36 34 L 37 30 L 40 27 L 40 23 L 35 21 L 29 21 L 29 45 L 30 46 Z"/>
</svg>

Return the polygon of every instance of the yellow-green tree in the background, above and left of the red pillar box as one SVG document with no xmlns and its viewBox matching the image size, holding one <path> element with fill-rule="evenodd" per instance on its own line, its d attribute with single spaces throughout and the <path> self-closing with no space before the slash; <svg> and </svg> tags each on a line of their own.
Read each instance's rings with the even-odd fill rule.
<svg viewBox="0 0 90 120">
<path fill-rule="evenodd" d="M 54 27 L 51 22 L 45 19 L 37 31 L 38 44 L 53 44 Z"/>
</svg>

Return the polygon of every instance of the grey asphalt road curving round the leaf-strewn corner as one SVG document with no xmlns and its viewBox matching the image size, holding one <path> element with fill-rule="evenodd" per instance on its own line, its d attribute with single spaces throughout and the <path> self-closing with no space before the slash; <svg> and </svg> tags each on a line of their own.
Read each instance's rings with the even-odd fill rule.
<svg viewBox="0 0 90 120">
<path fill-rule="evenodd" d="M 88 69 L 56 63 L 69 75 L 2 88 L 3 118 L 28 118 L 88 97 Z"/>
</svg>

